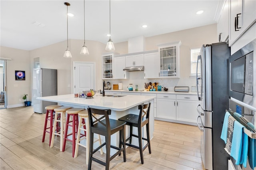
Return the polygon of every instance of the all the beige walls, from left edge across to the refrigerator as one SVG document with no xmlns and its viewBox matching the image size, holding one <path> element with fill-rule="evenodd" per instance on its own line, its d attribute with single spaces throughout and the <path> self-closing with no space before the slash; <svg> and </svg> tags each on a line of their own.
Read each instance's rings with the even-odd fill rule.
<svg viewBox="0 0 256 170">
<path fill-rule="evenodd" d="M 143 71 L 131 72 L 129 80 L 110 80 L 111 84 L 122 81 L 124 87 L 129 83 L 138 84 L 139 89 L 144 88 L 144 82 L 156 81 L 166 88 L 173 89 L 175 85 L 194 86 L 194 78 L 190 78 L 190 48 L 200 47 L 202 44 L 217 42 L 217 26 L 211 24 L 198 28 L 162 34 L 146 38 L 145 51 L 158 49 L 156 44 L 165 42 L 181 41 L 180 46 L 180 79 L 144 79 Z M 114 40 L 113 40 L 114 41 Z M 107 40 L 106 40 L 107 42 Z M 7 61 L 7 82 L 8 82 L 8 105 L 23 103 L 19 101 L 24 93 L 28 93 L 31 99 L 31 71 L 33 60 L 40 57 L 40 67 L 58 69 L 58 95 L 70 94 L 73 91 L 73 62 L 90 61 L 96 65 L 96 90 L 102 89 L 102 62 L 101 55 L 105 51 L 104 43 L 86 41 L 90 55 L 80 55 L 83 40 L 69 40 L 69 48 L 72 58 L 64 58 L 66 41 L 48 45 L 31 51 L 1 47 L 1 57 L 9 57 L 13 60 Z M 115 43 L 116 53 L 128 53 L 128 42 Z M 30 67 L 31 65 L 31 67 Z M 15 81 L 14 70 L 26 71 L 26 81 Z"/>
</svg>

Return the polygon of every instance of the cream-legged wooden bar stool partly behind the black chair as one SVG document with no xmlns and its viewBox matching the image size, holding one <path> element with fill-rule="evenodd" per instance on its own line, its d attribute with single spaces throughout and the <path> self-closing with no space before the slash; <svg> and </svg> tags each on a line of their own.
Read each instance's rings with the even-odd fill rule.
<svg viewBox="0 0 256 170">
<path fill-rule="evenodd" d="M 76 148 L 75 148 L 75 156 L 74 158 L 77 157 L 78 154 L 78 146 L 83 146 L 86 148 L 86 164 L 88 165 L 89 162 L 89 119 L 88 119 L 88 111 L 80 111 L 78 113 L 79 116 L 79 124 L 78 124 L 78 132 L 77 132 L 77 138 L 76 138 Z M 84 121 L 86 119 L 86 122 Z M 81 133 L 81 130 L 84 130 L 84 134 Z M 80 134 L 80 135 L 79 135 Z M 86 139 L 86 146 L 80 143 L 81 140 Z M 101 138 L 100 135 L 98 134 L 98 139 L 94 138 L 94 143 L 98 142 L 101 145 Z M 100 154 L 103 154 L 103 149 L 100 149 Z"/>
</svg>

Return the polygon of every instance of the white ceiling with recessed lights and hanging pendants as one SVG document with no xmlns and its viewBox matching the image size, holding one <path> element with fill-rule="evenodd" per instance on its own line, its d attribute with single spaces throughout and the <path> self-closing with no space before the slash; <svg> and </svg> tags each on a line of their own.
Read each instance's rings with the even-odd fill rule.
<svg viewBox="0 0 256 170">
<path fill-rule="evenodd" d="M 0 45 L 32 50 L 66 40 L 84 40 L 83 0 L 1 0 Z M 108 41 L 109 1 L 86 0 L 86 40 Z M 136 36 L 155 36 L 216 23 L 218 0 L 112 0 L 111 39 L 114 43 Z M 198 10 L 204 10 L 201 15 Z M 44 27 L 33 25 L 34 22 Z M 142 25 L 148 25 L 142 28 Z M 82 46 L 82 45 L 81 45 Z"/>
</svg>

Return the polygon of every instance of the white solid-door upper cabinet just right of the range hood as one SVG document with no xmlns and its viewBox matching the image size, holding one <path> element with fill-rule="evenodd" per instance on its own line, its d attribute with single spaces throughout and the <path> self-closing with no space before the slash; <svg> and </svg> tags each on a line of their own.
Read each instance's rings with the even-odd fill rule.
<svg viewBox="0 0 256 170">
<path fill-rule="evenodd" d="M 144 79 L 159 78 L 160 59 L 159 53 L 144 54 Z"/>
</svg>

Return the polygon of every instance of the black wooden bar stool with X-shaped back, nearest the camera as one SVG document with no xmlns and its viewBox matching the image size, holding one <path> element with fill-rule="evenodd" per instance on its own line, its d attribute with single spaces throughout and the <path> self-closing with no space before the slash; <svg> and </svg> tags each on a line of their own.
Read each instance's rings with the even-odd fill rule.
<svg viewBox="0 0 256 170">
<path fill-rule="evenodd" d="M 118 154 L 123 152 L 124 162 L 126 162 L 126 146 L 125 146 L 125 122 L 114 119 L 109 119 L 108 115 L 111 115 L 110 109 L 94 109 L 88 107 L 89 116 L 89 132 L 90 132 L 90 156 L 88 170 L 92 167 L 92 160 L 106 166 L 106 170 L 109 169 L 110 161 L 115 158 Z M 97 118 L 100 117 L 99 119 Z M 95 121 L 94 121 L 94 120 Z M 110 136 L 119 131 L 119 148 L 110 144 Z M 93 136 L 94 133 L 105 136 L 106 142 L 101 144 L 98 148 L 93 150 Z M 106 162 L 93 157 L 93 154 L 100 148 L 106 145 Z M 121 147 L 123 146 L 123 147 Z M 110 148 L 118 150 L 114 155 L 110 157 Z"/>
</svg>

